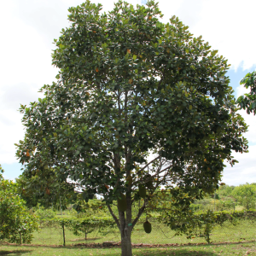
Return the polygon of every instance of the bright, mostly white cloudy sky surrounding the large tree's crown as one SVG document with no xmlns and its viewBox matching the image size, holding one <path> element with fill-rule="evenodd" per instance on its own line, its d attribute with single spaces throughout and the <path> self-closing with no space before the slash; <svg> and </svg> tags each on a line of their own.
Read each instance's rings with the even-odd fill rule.
<svg viewBox="0 0 256 256">
<path fill-rule="evenodd" d="M 58 70 L 51 66 L 54 38 L 60 37 L 61 28 L 69 26 L 67 9 L 82 0 L 8 0 L 2 1 L 0 26 L 0 164 L 5 178 L 20 175 L 20 164 L 15 158 L 15 145 L 23 140 L 24 127 L 18 109 L 21 104 L 38 101 L 44 84 L 55 81 Z M 103 11 L 113 9 L 112 0 L 91 1 L 102 3 Z M 145 0 L 127 0 L 136 5 Z M 212 49 L 218 49 L 231 64 L 228 75 L 236 98 L 245 93 L 239 81 L 256 68 L 255 9 L 253 0 L 159 0 L 168 22 L 178 16 L 195 37 L 202 35 Z M 248 154 L 234 154 L 239 164 L 224 169 L 223 182 L 229 185 L 256 182 L 256 116 L 241 110 L 250 125 L 245 134 L 249 141 Z M 254 127 L 254 129 L 253 129 Z"/>
</svg>

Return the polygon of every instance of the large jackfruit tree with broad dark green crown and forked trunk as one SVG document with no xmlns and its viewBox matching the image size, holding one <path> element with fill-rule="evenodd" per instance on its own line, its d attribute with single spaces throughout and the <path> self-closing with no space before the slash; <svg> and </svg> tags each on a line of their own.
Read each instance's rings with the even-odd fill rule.
<svg viewBox="0 0 256 256">
<path fill-rule="evenodd" d="M 43 99 L 20 105 L 26 136 L 17 157 L 30 175 L 54 166 L 85 201 L 102 195 L 125 256 L 155 189 L 176 186 L 189 198 L 213 191 L 224 160 L 236 162 L 232 150 L 247 151 L 247 125 L 227 60 L 178 18 L 160 22 L 154 1 L 101 10 L 90 1 L 69 9 L 71 24 L 54 40 L 57 82 L 42 87 Z"/>
</svg>

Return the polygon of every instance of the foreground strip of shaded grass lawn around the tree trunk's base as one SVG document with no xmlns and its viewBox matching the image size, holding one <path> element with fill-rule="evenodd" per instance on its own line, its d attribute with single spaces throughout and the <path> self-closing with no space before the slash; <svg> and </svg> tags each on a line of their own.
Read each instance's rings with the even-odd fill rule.
<svg viewBox="0 0 256 256">
<path fill-rule="evenodd" d="M 88 247 L 46 247 L 46 246 L 9 246 L 0 245 L 0 255 L 8 256 L 26 256 L 26 255 L 45 255 L 45 256 L 96 256 L 108 255 L 119 256 L 121 249 L 119 247 L 112 248 L 88 248 Z M 240 242 L 229 244 L 203 244 L 203 245 L 187 245 L 173 247 L 134 247 L 133 256 L 181 256 L 181 255 L 256 255 L 255 242 Z"/>
</svg>

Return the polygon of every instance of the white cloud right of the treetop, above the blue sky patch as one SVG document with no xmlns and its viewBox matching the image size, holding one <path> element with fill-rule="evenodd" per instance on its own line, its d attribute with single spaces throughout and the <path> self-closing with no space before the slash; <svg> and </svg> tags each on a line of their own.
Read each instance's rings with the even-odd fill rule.
<svg viewBox="0 0 256 256">
<path fill-rule="evenodd" d="M 256 63 L 255 8 L 251 0 L 160 0 L 160 9 L 168 21 L 176 15 L 195 37 L 202 38 L 229 60 L 231 67 L 243 69 Z"/>
</svg>

